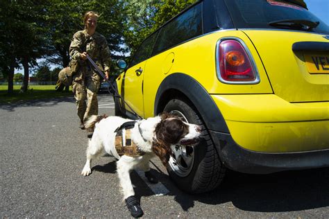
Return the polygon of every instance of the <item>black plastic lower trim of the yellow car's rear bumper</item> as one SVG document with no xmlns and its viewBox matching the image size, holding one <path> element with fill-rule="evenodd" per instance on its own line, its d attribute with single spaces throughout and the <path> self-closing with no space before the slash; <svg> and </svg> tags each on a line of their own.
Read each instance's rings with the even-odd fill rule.
<svg viewBox="0 0 329 219">
<path fill-rule="evenodd" d="M 210 130 L 221 161 L 242 173 L 267 174 L 283 170 L 329 166 L 329 149 L 305 152 L 255 152 L 239 146 L 230 134 Z"/>
</svg>

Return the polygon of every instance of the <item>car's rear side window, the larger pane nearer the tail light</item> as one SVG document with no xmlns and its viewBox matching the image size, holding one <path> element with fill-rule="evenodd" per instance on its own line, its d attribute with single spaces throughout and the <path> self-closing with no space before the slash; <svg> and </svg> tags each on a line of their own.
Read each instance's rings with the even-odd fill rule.
<svg viewBox="0 0 329 219">
<path fill-rule="evenodd" d="M 202 34 L 201 3 L 162 27 L 153 55 Z"/>
</svg>

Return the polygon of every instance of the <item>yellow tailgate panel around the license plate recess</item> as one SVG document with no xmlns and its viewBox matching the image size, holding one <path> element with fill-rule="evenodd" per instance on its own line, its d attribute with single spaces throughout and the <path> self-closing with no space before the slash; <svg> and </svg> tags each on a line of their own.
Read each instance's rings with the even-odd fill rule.
<svg viewBox="0 0 329 219">
<path fill-rule="evenodd" d="M 329 73 L 323 69 L 309 73 L 305 62 L 305 55 L 313 55 L 323 57 L 328 65 L 329 53 L 292 51 L 296 42 L 328 42 L 323 35 L 282 30 L 244 30 L 244 33 L 260 54 L 274 94 L 289 102 L 329 100 Z"/>
</svg>

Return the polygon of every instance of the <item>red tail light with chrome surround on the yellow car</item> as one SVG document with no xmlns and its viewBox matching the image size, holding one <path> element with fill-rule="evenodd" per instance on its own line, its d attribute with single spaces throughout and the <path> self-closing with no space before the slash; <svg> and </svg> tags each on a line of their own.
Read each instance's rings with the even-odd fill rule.
<svg viewBox="0 0 329 219">
<path fill-rule="evenodd" d="M 244 46 L 237 40 L 223 40 L 218 49 L 219 78 L 227 83 L 258 82 Z"/>
</svg>

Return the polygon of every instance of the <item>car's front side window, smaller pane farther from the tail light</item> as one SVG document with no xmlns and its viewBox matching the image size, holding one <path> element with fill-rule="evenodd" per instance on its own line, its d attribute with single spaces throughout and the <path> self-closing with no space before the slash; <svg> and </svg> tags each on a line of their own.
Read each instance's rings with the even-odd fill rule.
<svg viewBox="0 0 329 219">
<path fill-rule="evenodd" d="M 159 31 L 153 33 L 147 37 L 142 44 L 140 44 L 140 47 L 135 52 L 133 60 L 129 64 L 130 67 L 150 58 L 155 40 L 158 37 L 158 33 Z"/>
</svg>

